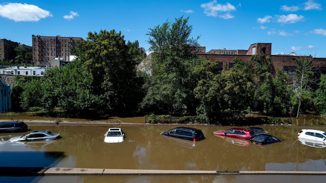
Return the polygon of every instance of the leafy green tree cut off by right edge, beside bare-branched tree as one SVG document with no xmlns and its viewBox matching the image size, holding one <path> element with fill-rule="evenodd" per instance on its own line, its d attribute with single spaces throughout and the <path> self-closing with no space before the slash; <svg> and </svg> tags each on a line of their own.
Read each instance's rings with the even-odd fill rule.
<svg viewBox="0 0 326 183">
<path fill-rule="evenodd" d="M 319 88 L 315 93 L 314 102 L 317 107 L 317 113 L 326 116 L 326 74 L 321 75 Z"/>
</svg>

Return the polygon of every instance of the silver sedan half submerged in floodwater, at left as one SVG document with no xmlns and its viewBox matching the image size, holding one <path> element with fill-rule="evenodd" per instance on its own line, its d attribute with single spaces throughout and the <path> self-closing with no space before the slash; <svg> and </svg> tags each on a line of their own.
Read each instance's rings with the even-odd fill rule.
<svg viewBox="0 0 326 183">
<path fill-rule="evenodd" d="M 22 136 L 16 136 L 9 139 L 9 142 L 22 142 L 22 141 L 37 141 L 37 140 L 56 140 L 60 138 L 60 134 L 50 131 L 37 130 Z"/>
</svg>

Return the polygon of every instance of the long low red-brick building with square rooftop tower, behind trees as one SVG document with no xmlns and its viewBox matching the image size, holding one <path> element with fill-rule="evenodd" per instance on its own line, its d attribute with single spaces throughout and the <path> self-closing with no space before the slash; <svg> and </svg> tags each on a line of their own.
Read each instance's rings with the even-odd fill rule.
<svg viewBox="0 0 326 183">
<path fill-rule="evenodd" d="M 219 70 L 222 72 L 224 67 L 225 69 L 230 69 L 233 67 L 233 59 L 235 57 L 241 59 L 242 61 L 249 61 L 253 54 L 258 54 L 263 52 L 272 59 L 272 73 L 275 74 L 276 69 L 281 69 L 285 73 L 294 77 L 294 68 L 296 63 L 293 60 L 293 57 L 300 57 L 295 54 L 289 55 L 272 55 L 272 43 L 254 43 L 251 44 L 249 49 L 242 52 L 237 52 L 236 55 L 232 54 L 209 54 L 209 53 L 197 53 L 200 57 L 207 58 L 212 62 L 219 62 Z M 317 68 L 314 70 L 315 77 L 320 77 L 321 74 L 326 74 L 326 58 L 313 58 L 313 65 Z"/>
</svg>

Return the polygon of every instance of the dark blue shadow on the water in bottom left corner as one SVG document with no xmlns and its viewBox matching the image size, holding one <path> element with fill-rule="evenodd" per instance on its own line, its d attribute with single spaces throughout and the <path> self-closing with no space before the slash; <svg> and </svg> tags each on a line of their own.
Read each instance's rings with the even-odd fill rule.
<svg viewBox="0 0 326 183">
<path fill-rule="evenodd" d="M 34 152 L 34 151 L 2 151 L 0 152 L 0 167 L 53 167 L 63 158 L 65 152 Z M 37 182 L 41 177 L 29 174 L 13 174 L 10 168 L 0 168 L 1 182 Z M 7 169 L 7 171 L 6 171 Z M 39 169 L 39 170 L 37 170 Z M 22 168 L 22 173 L 38 172 L 42 168 Z M 25 176 L 25 177 L 22 177 Z"/>
</svg>

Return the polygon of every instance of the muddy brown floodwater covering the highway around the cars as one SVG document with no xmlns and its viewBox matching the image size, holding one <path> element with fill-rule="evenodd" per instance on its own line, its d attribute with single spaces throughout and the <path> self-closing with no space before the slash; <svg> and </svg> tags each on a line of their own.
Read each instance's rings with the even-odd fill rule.
<svg viewBox="0 0 326 183">
<path fill-rule="evenodd" d="M 2 133 L 0 134 L 0 157 L 6 158 L 2 158 L 0 166 L 156 170 L 326 171 L 326 148 L 313 147 L 311 144 L 309 146 L 309 144 L 304 144 L 304 142 L 297 139 L 297 134 L 303 127 L 260 126 L 274 136 L 284 139 L 282 142 L 263 146 L 253 145 L 247 140 L 215 136 L 213 132 L 233 127 L 209 125 L 190 126 L 201 129 L 205 134 L 206 139 L 197 142 L 160 134 L 163 131 L 177 127 L 175 125 L 122 125 L 119 128 L 125 132 L 124 142 L 105 143 L 104 135 L 109 128 L 113 127 L 118 126 L 29 124 L 28 128 L 31 131 L 49 130 L 62 136 L 61 139 L 45 142 L 8 142 L 9 138 L 26 133 Z M 326 127 L 309 127 L 309 129 L 326 131 Z M 80 176 L 72 176 L 72 179 L 74 179 L 72 182 L 85 182 L 85 180 L 87 182 L 93 180 L 93 182 L 96 182 L 95 180 L 101 182 L 101 177 L 105 176 L 94 179 L 91 178 L 93 176 L 76 177 Z M 114 177 L 108 177 L 108 180 L 113 180 Z M 153 178 L 155 176 L 141 177 L 143 177 L 143 180 L 160 179 Z M 172 179 L 174 176 L 167 177 L 169 178 L 164 179 L 163 182 L 168 182 L 166 180 Z M 180 182 L 184 182 L 189 178 L 187 176 L 178 177 L 181 179 Z M 219 180 L 219 176 L 191 177 L 189 181 L 193 182 L 206 179 L 210 182 L 214 182 L 215 179 Z M 322 176 L 313 177 L 318 179 L 318 177 Z M 42 179 L 51 179 L 51 176 L 42 177 Z M 79 179 L 82 179 L 82 181 L 79 181 Z M 122 182 L 135 182 L 132 179 L 132 177 L 128 176 Z M 236 180 L 237 178 L 231 178 L 230 180 L 233 179 Z"/>
</svg>

